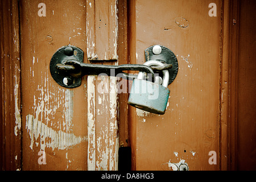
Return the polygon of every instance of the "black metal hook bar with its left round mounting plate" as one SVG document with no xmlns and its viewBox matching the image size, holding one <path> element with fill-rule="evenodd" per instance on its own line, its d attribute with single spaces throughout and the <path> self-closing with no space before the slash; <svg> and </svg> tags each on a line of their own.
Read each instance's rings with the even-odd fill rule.
<svg viewBox="0 0 256 182">
<path fill-rule="evenodd" d="M 151 81 L 154 81 L 154 71 L 171 69 L 172 64 L 164 64 L 162 67 L 148 67 L 142 64 L 101 65 L 82 63 L 84 52 L 75 46 L 59 48 L 52 56 L 50 72 L 57 84 L 65 88 L 76 88 L 81 85 L 81 77 L 85 75 L 105 75 L 122 77 L 127 80 L 137 78 L 137 75 L 127 74 L 123 71 L 146 72 Z"/>
</svg>

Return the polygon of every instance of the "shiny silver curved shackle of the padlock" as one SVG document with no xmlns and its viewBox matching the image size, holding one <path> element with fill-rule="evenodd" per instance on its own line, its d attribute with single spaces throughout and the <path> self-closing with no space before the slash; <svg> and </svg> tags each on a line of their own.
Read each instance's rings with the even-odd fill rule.
<svg viewBox="0 0 256 182">
<path fill-rule="evenodd" d="M 147 65 L 147 66 L 163 66 L 164 64 L 161 63 L 160 61 L 156 61 L 156 60 L 149 60 L 147 61 L 146 63 L 144 63 L 143 65 Z M 168 83 L 169 83 L 169 72 L 167 70 L 163 70 L 163 82 L 162 82 L 162 85 L 164 87 L 167 87 L 168 86 Z M 143 80 L 144 78 L 144 72 L 139 72 L 138 73 L 138 79 L 140 80 Z"/>
</svg>

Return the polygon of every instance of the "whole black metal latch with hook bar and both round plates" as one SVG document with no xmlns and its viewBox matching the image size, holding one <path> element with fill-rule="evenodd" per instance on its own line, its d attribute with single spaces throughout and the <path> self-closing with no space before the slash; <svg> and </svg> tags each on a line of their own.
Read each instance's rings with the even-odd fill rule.
<svg viewBox="0 0 256 182">
<path fill-rule="evenodd" d="M 81 85 L 81 78 L 85 75 L 100 75 L 104 73 L 106 76 L 122 77 L 127 80 L 137 78 L 137 75 L 127 74 L 123 71 L 140 71 L 148 73 L 155 79 L 155 73 L 161 74 L 163 70 L 170 73 L 169 84 L 174 81 L 178 64 L 174 53 L 164 46 L 151 46 L 145 50 L 146 61 L 157 60 L 164 65 L 160 67 L 149 67 L 141 64 L 122 64 L 122 65 L 101 65 L 101 64 L 85 64 L 84 52 L 75 46 L 64 46 L 59 48 L 52 56 L 50 61 L 50 72 L 52 78 L 57 84 L 65 88 L 76 88 Z"/>
</svg>

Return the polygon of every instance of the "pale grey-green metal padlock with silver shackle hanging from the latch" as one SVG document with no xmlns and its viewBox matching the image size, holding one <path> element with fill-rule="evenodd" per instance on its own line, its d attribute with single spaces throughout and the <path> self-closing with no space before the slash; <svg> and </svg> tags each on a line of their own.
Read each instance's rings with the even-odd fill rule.
<svg viewBox="0 0 256 182">
<path fill-rule="evenodd" d="M 156 60 L 150 60 L 144 63 L 144 65 L 162 66 L 164 64 Z M 150 113 L 164 114 L 166 112 L 170 89 L 167 88 L 169 72 L 167 70 L 162 72 L 162 85 L 143 80 L 144 72 L 139 72 L 138 77 L 134 79 L 133 85 L 131 86 L 128 104 Z"/>
</svg>

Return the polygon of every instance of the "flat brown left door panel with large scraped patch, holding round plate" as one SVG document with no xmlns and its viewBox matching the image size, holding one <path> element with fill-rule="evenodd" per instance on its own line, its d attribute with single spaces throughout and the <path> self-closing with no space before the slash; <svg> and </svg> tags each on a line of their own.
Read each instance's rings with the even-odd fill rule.
<svg viewBox="0 0 256 182">
<path fill-rule="evenodd" d="M 86 82 L 65 89 L 52 79 L 49 61 L 68 44 L 86 50 L 84 1 L 20 2 L 22 60 L 22 148 L 24 170 L 87 168 Z M 46 164 L 39 164 L 44 151 Z"/>
</svg>

